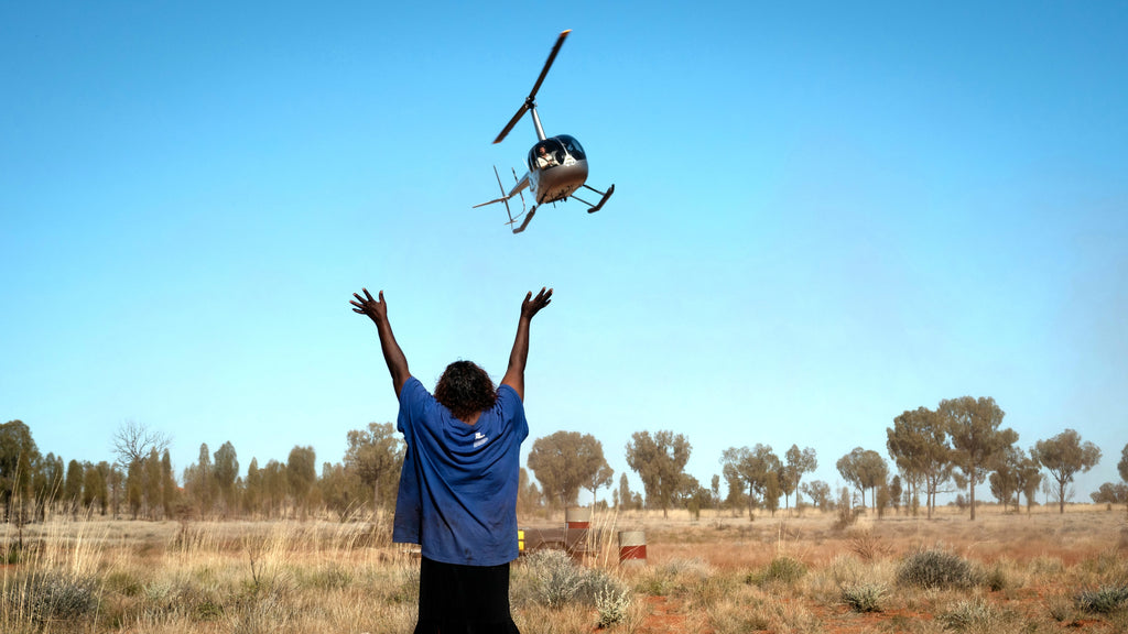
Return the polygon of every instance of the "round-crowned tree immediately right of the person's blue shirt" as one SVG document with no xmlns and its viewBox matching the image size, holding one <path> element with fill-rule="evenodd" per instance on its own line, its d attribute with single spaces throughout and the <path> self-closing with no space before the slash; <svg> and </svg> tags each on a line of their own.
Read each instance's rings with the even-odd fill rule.
<svg viewBox="0 0 1128 634">
<path fill-rule="evenodd" d="M 527 464 L 554 507 L 575 504 L 581 487 L 596 484 L 603 486 L 601 472 L 605 467 L 607 472 L 610 470 L 603 459 L 602 443 L 591 434 L 575 431 L 558 431 L 538 438 L 532 443 Z M 605 479 L 610 484 L 610 474 L 607 472 L 603 472 Z"/>
</svg>

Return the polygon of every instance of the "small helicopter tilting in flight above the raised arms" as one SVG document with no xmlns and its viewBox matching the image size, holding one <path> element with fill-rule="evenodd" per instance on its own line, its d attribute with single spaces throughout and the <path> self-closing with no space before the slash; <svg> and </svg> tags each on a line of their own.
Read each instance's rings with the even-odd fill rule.
<svg viewBox="0 0 1128 634">
<path fill-rule="evenodd" d="M 514 234 L 525 231 L 525 228 L 529 226 L 529 221 L 532 220 L 534 214 L 537 213 L 537 209 L 540 205 L 546 203 L 564 202 L 569 199 L 573 199 L 588 205 L 588 213 L 596 213 L 603 208 L 603 203 L 607 202 L 607 199 L 611 197 L 611 194 L 615 193 L 614 184 L 608 187 L 606 192 L 600 192 L 599 190 L 589 186 L 587 184 L 588 157 L 583 151 L 583 147 L 580 146 L 580 142 L 576 141 L 575 137 L 570 134 L 546 137 L 545 130 L 540 126 L 540 117 L 537 115 L 537 90 L 540 89 L 540 83 L 544 82 L 545 76 L 548 74 L 548 69 L 552 68 L 553 61 L 556 60 L 556 54 L 559 53 L 561 46 L 564 44 L 564 39 L 570 33 L 572 33 L 572 29 L 564 30 L 559 34 L 559 37 L 556 38 L 556 44 L 548 54 L 548 61 L 545 62 L 545 68 L 541 69 L 540 77 L 538 77 L 537 82 L 532 85 L 532 91 L 529 93 L 528 97 L 526 97 L 525 103 L 521 104 L 520 108 L 518 108 L 513 118 L 505 124 L 505 127 L 500 134 L 497 134 L 497 138 L 494 139 L 494 143 L 501 143 L 510 131 L 513 130 L 513 126 L 517 125 L 517 122 L 525 116 L 525 113 L 531 112 L 532 125 L 537 129 L 537 143 L 529 150 L 526 161 L 529 170 L 525 174 L 525 176 L 518 178 L 517 170 L 513 169 L 513 180 L 515 184 L 509 193 L 505 193 L 505 187 L 501 184 L 501 176 L 497 174 L 497 167 L 495 166 L 494 177 L 497 178 L 497 187 L 501 190 L 502 196 L 490 202 L 474 205 L 474 209 L 477 209 L 488 204 L 505 203 L 505 213 L 509 215 L 509 222 L 506 222 L 506 224 L 511 227 L 517 224 L 523 215 L 525 219 L 521 221 L 521 224 L 513 228 Z M 575 192 L 580 187 L 599 194 L 599 202 L 592 204 L 576 196 Z M 534 204 L 528 210 L 526 210 L 525 190 L 529 190 L 534 195 Z M 515 195 L 521 196 L 521 212 L 514 218 L 509 206 L 509 200 Z"/>
</svg>

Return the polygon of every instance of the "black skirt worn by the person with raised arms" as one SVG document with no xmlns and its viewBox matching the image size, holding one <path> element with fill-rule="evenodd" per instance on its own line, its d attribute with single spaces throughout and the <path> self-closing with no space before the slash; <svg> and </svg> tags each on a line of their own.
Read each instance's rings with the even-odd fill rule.
<svg viewBox="0 0 1128 634">
<path fill-rule="evenodd" d="M 423 557 L 415 634 L 519 634 L 509 611 L 509 564 L 467 566 Z"/>
</svg>

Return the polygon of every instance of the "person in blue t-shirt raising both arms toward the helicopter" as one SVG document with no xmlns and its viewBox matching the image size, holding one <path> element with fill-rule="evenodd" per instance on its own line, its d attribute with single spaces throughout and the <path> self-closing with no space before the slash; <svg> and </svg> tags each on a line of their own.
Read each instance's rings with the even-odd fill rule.
<svg viewBox="0 0 1128 634">
<path fill-rule="evenodd" d="M 521 302 L 517 340 L 496 388 L 470 361 L 447 367 L 432 396 L 407 369 L 388 323 L 384 291 L 353 293 L 353 312 L 376 324 L 399 398 L 397 429 L 407 452 L 399 475 L 393 540 L 418 544 L 415 634 L 517 633 L 509 564 L 518 556 L 517 490 L 525 420 L 525 366 L 532 317 L 553 291 Z"/>
</svg>

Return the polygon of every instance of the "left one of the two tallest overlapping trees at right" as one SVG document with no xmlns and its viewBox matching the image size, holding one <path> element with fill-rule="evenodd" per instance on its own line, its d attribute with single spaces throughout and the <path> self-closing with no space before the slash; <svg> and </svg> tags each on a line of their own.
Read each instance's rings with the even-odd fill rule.
<svg viewBox="0 0 1128 634">
<path fill-rule="evenodd" d="M 940 486 L 952 477 L 952 448 L 948 429 L 938 413 L 927 407 L 906 411 L 885 428 L 885 448 L 911 491 L 914 514 L 919 505 L 918 487 L 925 487 L 928 519 L 936 509 Z"/>
</svg>

